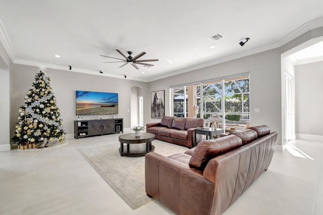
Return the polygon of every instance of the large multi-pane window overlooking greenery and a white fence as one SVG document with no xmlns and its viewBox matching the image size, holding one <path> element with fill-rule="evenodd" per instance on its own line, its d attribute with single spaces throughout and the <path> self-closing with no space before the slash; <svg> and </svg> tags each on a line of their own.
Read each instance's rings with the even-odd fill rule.
<svg viewBox="0 0 323 215">
<path fill-rule="evenodd" d="M 216 113 L 226 124 L 249 122 L 249 74 L 172 87 L 172 92 L 175 117 L 207 119 Z M 197 115 L 193 113 L 195 105 L 199 108 Z"/>
</svg>

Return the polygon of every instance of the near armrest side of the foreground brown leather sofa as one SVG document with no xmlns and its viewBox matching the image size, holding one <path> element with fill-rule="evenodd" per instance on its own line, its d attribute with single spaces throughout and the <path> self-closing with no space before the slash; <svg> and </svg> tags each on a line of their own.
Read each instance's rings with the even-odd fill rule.
<svg viewBox="0 0 323 215">
<path fill-rule="evenodd" d="M 202 171 L 150 152 L 145 155 L 145 190 L 177 214 L 208 214 L 214 184 Z"/>
</svg>

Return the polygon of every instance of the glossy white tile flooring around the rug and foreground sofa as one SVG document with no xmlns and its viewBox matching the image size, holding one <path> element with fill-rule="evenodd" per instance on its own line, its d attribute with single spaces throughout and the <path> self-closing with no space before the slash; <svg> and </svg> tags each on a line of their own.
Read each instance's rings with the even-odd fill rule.
<svg viewBox="0 0 323 215">
<path fill-rule="evenodd" d="M 173 214 L 156 200 L 132 210 L 77 150 L 118 143 L 118 135 L 69 139 L 42 151 L 0 152 L 0 214 Z M 276 147 L 268 171 L 224 214 L 323 214 L 322 154 L 318 141 Z"/>
</svg>

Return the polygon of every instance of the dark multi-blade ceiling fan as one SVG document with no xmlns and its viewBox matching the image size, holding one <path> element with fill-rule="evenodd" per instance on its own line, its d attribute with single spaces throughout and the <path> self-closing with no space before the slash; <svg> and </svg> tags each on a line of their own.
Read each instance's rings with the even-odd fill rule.
<svg viewBox="0 0 323 215">
<path fill-rule="evenodd" d="M 100 55 L 102 57 L 106 57 L 106 58 L 113 58 L 113 59 L 117 59 L 117 60 L 121 60 L 121 61 L 114 61 L 114 62 L 103 62 L 103 63 L 118 63 L 118 62 L 124 62 L 123 65 L 121 65 L 119 68 L 126 66 L 127 64 L 131 64 L 134 68 L 136 68 L 137 70 L 139 70 L 139 67 L 136 64 L 140 64 L 146 67 L 152 67 L 153 64 L 146 64 L 146 63 L 142 63 L 142 62 L 149 62 L 149 61 L 158 61 L 158 59 L 150 59 L 150 60 L 137 60 L 138 58 L 140 58 L 141 56 L 143 56 L 146 52 L 142 51 L 141 53 L 139 53 L 138 55 L 136 55 L 135 57 L 131 57 L 132 55 L 132 51 L 127 51 L 127 53 L 129 54 L 129 56 L 125 56 L 120 50 L 116 49 L 120 55 L 122 55 L 122 57 L 124 57 L 125 59 L 120 59 L 120 58 L 113 58 L 113 57 L 109 57 L 109 56 L 104 56 L 104 55 Z"/>
</svg>

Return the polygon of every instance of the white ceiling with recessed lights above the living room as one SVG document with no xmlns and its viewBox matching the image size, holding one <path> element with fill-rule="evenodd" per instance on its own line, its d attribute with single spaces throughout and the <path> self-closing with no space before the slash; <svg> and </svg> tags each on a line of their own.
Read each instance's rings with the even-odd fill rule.
<svg viewBox="0 0 323 215">
<path fill-rule="evenodd" d="M 322 26 L 322 8 L 321 0 L 0 0 L 0 40 L 14 63 L 151 81 L 279 47 L 313 20 Z M 217 33 L 225 38 L 208 39 Z M 99 55 L 122 58 L 115 49 L 159 61 L 139 70 L 102 63 L 110 59 Z"/>
</svg>

